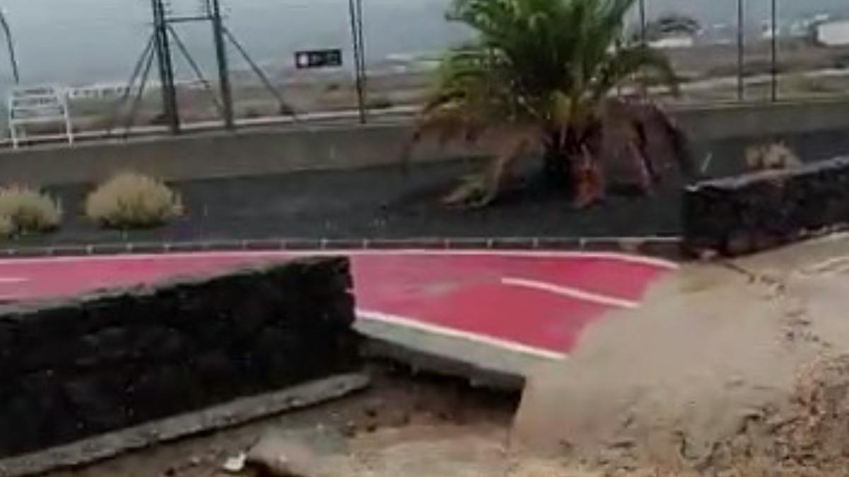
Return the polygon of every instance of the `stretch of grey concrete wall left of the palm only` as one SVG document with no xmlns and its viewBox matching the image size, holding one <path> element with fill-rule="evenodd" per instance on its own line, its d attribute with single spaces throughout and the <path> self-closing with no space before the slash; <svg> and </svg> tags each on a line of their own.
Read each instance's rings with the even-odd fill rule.
<svg viewBox="0 0 849 477">
<path fill-rule="evenodd" d="M 281 127 L 20 149 L 0 153 L 0 183 L 98 182 L 119 171 L 175 181 L 400 164 L 410 133 L 408 122 Z M 469 154 L 474 153 L 430 143 L 417 149 L 416 157 L 447 159 Z"/>
</svg>

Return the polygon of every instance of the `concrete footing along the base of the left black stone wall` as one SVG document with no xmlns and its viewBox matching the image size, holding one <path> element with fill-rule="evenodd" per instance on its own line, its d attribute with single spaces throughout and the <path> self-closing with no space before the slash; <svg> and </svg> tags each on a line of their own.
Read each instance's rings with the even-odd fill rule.
<svg viewBox="0 0 849 477">
<path fill-rule="evenodd" d="M 98 435 L 65 446 L 2 459 L 0 460 L 0 476 L 21 477 L 77 467 L 114 457 L 121 452 L 245 424 L 281 412 L 338 399 L 363 390 L 368 387 L 368 384 L 369 378 L 364 374 L 343 374 L 260 396 L 245 397 L 200 411 Z"/>
</svg>

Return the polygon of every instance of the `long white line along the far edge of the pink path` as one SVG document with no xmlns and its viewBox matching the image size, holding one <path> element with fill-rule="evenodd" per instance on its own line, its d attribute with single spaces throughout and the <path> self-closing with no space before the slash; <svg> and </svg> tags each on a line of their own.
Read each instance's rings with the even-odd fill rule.
<svg viewBox="0 0 849 477">
<path fill-rule="evenodd" d="M 651 267 L 664 268 L 666 270 L 678 270 L 678 264 L 674 261 L 661 258 L 627 255 L 613 252 L 578 252 L 559 250 L 246 250 L 226 252 L 179 252 L 163 254 L 138 254 L 138 255 L 80 255 L 80 256 L 47 256 L 37 258 L 7 258 L 0 260 L 0 266 L 28 263 L 67 263 L 80 261 L 146 261 L 170 258 L 262 258 L 262 257 L 292 257 L 292 256 L 327 256 L 327 255 L 424 255 L 424 256 L 516 256 L 529 258 L 574 258 L 592 260 L 622 261 L 636 263 Z"/>
</svg>

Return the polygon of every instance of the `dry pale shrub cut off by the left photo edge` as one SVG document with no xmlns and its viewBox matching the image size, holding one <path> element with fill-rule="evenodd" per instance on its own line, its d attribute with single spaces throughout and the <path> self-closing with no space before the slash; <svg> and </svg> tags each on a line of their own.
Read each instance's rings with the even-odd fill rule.
<svg viewBox="0 0 849 477">
<path fill-rule="evenodd" d="M 22 186 L 0 188 L 0 236 L 49 232 L 61 220 L 62 206 L 48 194 Z"/>
</svg>

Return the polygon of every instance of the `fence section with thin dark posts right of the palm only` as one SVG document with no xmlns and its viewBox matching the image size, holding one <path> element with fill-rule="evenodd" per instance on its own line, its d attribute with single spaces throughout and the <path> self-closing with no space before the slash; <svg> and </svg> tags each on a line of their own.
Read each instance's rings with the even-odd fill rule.
<svg viewBox="0 0 849 477">
<path fill-rule="evenodd" d="M 683 79 L 680 101 L 780 101 L 849 90 L 849 6 L 837 1 L 642 0 L 641 28 Z"/>
</svg>

